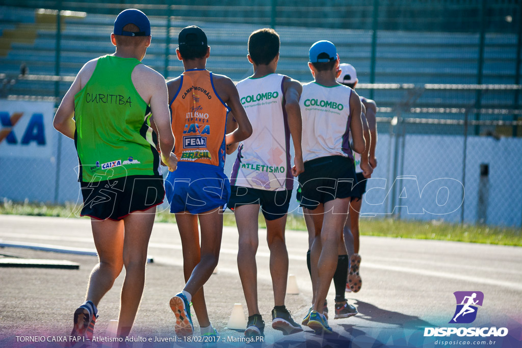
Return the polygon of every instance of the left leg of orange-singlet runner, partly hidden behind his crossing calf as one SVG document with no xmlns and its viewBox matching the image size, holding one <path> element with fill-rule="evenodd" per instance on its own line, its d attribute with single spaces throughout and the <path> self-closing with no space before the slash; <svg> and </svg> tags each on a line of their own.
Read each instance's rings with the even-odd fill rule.
<svg viewBox="0 0 522 348">
<path fill-rule="evenodd" d="M 181 236 L 181 246 L 183 249 L 183 275 L 185 282 L 187 282 L 201 257 L 197 215 L 189 212 L 177 213 L 176 224 Z M 201 289 L 196 293 L 188 293 L 192 296 L 192 306 L 194 308 L 194 313 L 196 313 L 198 318 L 199 325 L 201 327 L 209 326 L 210 321 L 208 318 L 203 287 L 201 287 Z"/>
</svg>

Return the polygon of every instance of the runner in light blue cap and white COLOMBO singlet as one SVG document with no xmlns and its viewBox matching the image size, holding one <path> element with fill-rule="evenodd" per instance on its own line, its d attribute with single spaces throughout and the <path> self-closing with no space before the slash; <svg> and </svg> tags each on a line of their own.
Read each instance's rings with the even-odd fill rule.
<svg viewBox="0 0 522 348">
<path fill-rule="evenodd" d="M 361 101 L 355 91 L 336 81 L 339 67 L 337 49 L 330 41 L 318 41 L 309 52 L 314 81 L 303 86 L 300 104 L 303 117 L 304 172 L 299 175 L 301 207 L 315 233 L 311 250 L 312 307 L 303 319 L 316 332 L 331 333 L 324 316 L 324 303 L 333 279 L 342 226 L 357 183 L 353 149 L 365 150 Z M 369 166 L 363 165 L 364 171 Z M 367 174 L 367 173 L 366 173 Z M 310 226 L 310 224 L 312 226 Z"/>
</svg>

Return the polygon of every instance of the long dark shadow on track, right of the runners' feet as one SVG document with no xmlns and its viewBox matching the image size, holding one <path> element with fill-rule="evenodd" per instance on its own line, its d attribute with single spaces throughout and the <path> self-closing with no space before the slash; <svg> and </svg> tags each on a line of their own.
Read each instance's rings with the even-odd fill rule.
<svg viewBox="0 0 522 348">
<path fill-rule="evenodd" d="M 359 311 L 357 317 L 360 319 L 382 322 L 390 325 L 399 325 L 403 328 L 411 329 L 434 326 L 432 323 L 424 321 L 419 317 L 382 309 L 372 305 L 371 303 L 355 300 L 355 305 L 357 305 L 357 310 Z"/>
</svg>

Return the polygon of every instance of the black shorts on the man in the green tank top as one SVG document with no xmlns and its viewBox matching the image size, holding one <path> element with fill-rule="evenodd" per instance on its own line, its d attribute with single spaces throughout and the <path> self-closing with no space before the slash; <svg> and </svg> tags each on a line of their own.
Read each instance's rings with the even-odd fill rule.
<svg viewBox="0 0 522 348">
<path fill-rule="evenodd" d="M 131 175 L 100 182 L 80 182 L 84 207 L 80 215 L 121 220 L 135 211 L 160 205 L 165 197 L 162 176 Z"/>
</svg>

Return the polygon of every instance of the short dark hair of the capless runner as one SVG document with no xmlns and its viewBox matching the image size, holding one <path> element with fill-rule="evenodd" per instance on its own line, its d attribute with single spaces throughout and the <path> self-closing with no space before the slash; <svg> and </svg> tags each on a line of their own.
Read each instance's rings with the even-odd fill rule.
<svg viewBox="0 0 522 348">
<path fill-rule="evenodd" d="M 279 53 L 279 45 L 279 34 L 274 29 L 259 29 L 248 38 L 248 54 L 255 65 L 268 65 Z"/>
</svg>

